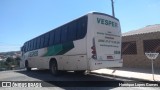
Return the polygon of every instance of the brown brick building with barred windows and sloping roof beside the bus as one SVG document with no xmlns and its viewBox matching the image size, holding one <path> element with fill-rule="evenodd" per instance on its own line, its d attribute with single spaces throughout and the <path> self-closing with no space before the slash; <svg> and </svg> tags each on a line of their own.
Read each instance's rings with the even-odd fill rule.
<svg viewBox="0 0 160 90">
<path fill-rule="evenodd" d="M 145 52 L 160 53 L 160 24 L 123 33 L 122 36 L 124 67 L 151 68 L 151 60 Z M 154 68 L 160 68 L 160 55 L 154 61 Z"/>
</svg>

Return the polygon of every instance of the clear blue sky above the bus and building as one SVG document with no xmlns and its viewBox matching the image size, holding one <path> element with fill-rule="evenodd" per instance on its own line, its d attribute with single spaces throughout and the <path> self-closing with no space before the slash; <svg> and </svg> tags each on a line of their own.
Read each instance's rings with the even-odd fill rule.
<svg viewBox="0 0 160 90">
<path fill-rule="evenodd" d="M 160 24 L 160 0 L 114 0 L 122 33 Z M 112 15 L 111 0 L 0 0 L 0 52 L 91 11 Z"/>
</svg>

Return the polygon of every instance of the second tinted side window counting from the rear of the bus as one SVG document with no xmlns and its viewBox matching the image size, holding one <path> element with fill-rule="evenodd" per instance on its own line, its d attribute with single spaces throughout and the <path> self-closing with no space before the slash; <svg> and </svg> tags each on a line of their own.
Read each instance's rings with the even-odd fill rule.
<svg viewBox="0 0 160 90">
<path fill-rule="evenodd" d="M 69 23 L 68 41 L 76 40 L 76 21 Z"/>
</svg>

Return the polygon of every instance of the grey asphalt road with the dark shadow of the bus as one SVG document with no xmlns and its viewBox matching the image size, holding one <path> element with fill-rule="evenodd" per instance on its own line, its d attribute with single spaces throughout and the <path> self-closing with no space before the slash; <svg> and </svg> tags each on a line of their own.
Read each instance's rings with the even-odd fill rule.
<svg viewBox="0 0 160 90">
<path fill-rule="evenodd" d="M 114 78 L 101 75 L 83 75 L 74 72 L 63 73 L 59 76 L 52 76 L 48 70 L 16 70 L 1 71 L 0 81 L 43 81 L 49 87 L 32 88 L 0 88 L 1 90 L 160 90 L 159 87 L 118 87 L 119 82 L 131 81 L 123 78 Z M 106 86 L 105 86 L 106 85 Z M 108 87 L 113 86 L 113 87 Z"/>
</svg>

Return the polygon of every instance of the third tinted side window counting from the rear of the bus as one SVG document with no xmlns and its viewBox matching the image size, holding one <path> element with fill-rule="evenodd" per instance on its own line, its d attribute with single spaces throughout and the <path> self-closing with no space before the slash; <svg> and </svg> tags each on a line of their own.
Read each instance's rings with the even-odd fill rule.
<svg viewBox="0 0 160 90">
<path fill-rule="evenodd" d="M 67 41 L 67 31 L 68 31 L 67 25 L 62 26 L 61 30 L 62 30 L 61 31 L 61 43 L 64 43 Z"/>
</svg>

